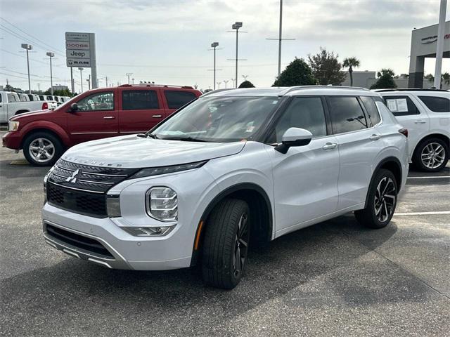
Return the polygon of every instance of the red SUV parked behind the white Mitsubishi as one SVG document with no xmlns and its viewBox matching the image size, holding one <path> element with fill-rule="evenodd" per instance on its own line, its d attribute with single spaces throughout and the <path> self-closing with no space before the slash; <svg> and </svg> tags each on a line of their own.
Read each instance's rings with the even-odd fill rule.
<svg viewBox="0 0 450 337">
<path fill-rule="evenodd" d="M 191 86 L 129 84 L 86 91 L 55 110 L 11 118 L 3 146 L 23 149 L 33 165 L 53 165 L 72 145 L 146 132 L 201 94 Z"/>
</svg>

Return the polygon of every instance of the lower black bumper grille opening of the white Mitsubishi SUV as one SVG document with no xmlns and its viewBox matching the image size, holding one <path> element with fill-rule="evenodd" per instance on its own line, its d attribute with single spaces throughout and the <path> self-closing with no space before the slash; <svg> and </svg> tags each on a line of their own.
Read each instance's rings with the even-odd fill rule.
<svg viewBox="0 0 450 337">
<path fill-rule="evenodd" d="M 46 224 L 46 232 L 49 237 L 53 237 L 53 239 L 57 239 L 65 244 L 70 244 L 70 246 L 84 249 L 85 251 L 89 251 L 91 253 L 96 253 L 97 255 L 104 256 L 105 258 L 114 258 L 108 249 L 106 249 L 105 246 L 103 246 L 103 244 L 98 242 L 96 239 L 84 237 L 83 235 L 75 234 L 69 232 L 68 230 L 63 230 L 49 224 Z"/>
</svg>

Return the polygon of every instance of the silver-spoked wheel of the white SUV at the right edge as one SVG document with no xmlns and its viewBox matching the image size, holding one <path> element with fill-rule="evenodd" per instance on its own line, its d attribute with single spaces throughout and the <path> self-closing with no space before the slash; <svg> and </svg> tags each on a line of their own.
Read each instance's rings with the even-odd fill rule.
<svg viewBox="0 0 450 337">
<path fill-rule="evenodd" d="M 414 165 L 425 172 L 444 169 L 449 161 L 449 143 L 441 138 L 429 138 L 420 143 L 414 153 Z"/>
</svg>

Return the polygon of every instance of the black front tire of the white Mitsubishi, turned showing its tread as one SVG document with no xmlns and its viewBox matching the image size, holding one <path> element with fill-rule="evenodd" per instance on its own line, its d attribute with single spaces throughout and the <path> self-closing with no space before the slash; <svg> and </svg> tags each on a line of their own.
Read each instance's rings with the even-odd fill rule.
<svg viewBox="0 0 450 337">
<path fill-rule="evenodd" d="M 242 226 L 243 230 L 240 233 L 243 234 L 243 239 L 242 242 L 240 240 L 236 242 L 243 217 L 247 219 L 246 226 Z M 233 289 L 243 275 L 249 242 L 250 209 L 248 204 L 239 199 L 224 199 L 212 211 L 205 228 L 202 259 L 205 284 L 222 289 Z M 235 260 L 236 252 L 240 253 L 241 258 Z"/>
</svg>

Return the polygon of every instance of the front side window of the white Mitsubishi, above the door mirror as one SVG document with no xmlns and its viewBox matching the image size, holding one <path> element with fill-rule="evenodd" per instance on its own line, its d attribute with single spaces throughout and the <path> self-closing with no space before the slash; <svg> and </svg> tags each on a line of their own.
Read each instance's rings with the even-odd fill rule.
<svg viewBox="0 0 450 337">
<path fill-rule="evenodd" d="M 304 128 L 313 136 L 326 136 L 325 114 L 319 97 L 294 98 L 275 126 L 274 136 L 269 143 L 281 143 L 288 128 Z"/>
</svg>

